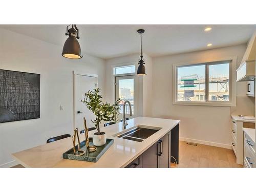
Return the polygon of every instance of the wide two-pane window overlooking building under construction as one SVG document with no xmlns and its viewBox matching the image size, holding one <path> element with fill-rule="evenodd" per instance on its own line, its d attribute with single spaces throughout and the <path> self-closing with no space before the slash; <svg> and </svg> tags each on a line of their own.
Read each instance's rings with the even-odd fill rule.
<svg viewBox="0 0 256 192">
<path fill-rule="evenodd" d="M 232 60 L 175 66 L 175 103 L 231 103 Z"/>
</svg>

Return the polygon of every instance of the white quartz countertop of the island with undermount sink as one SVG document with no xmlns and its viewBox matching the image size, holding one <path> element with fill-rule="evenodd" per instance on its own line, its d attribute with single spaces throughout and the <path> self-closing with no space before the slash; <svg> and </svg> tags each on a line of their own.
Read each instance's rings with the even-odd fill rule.
<svg viewBox="0 0 256 192">
<path fill-rule="evenodd" d="M 106 133 L 107 138 L 113 138 L 114 143 L 96 163 L 62 158 L 62 154 L 73 147 L 72 137 L 29 148 L 28 150 L 14 153 L 12 156 L 25 167 L 125 167 L 172 130 L 180 123 L 180 120 L 136 117 L 127 120 L 127 123 L 126 130 L 137 125 L 155 126 L 161 127 L 161 129 L 144 141 L 136 142 L 113 137 L 113 135 L 122 131 L 122 122 L 101 127 L 101 131 Z M 96 130 L 90 131 L 89 137 L 92 137 L 94 132 Z M 85 135 L 80 134 L 80 141 L 84 139 Z"/>
</svg>

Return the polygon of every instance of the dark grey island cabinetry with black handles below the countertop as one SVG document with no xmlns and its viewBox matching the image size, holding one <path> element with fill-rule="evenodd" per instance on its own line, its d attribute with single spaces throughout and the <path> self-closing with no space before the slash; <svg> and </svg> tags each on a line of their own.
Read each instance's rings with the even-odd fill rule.
<svg viewBox="0 0 256 192">
<path fill-rule="evenodd" d="M 127 168 L 168 168 L 171 156 L 178 161 L 179 124 L 132 161 Z M 175 138 L 172 140 L 172 138 Z M 172 159 L 173 162 L 173 159 Z"/>
</svg>

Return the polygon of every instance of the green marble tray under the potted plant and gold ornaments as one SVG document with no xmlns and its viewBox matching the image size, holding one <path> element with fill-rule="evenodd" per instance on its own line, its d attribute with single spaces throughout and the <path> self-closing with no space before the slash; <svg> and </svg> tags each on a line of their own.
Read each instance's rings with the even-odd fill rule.
<svg viewBox="0 0 256 192">
<path fill-rule="evenodd" d="M 89 138 L 90 146 L 93 146 L 93 138 Z M 99 158 L 108 150 L 108 148 L 114 143 L 114 139 L 106 139 L 106 144 L 102 146 L 97 146 L 97 150 L 95 152 L 88 152 L 86 147 L 85 140 L 80 143 L 80 148 L 85 153 L 84 155 L 74 155 L 73 147 L 63 153 L 64 159 L 72 159 L 72 160 L 79 160 L 79 161 L 90 161 L 90 162 L 97 162 Z M 76 151 L 78 150 L 78 145 L 76 145 Z"/>
</svg>

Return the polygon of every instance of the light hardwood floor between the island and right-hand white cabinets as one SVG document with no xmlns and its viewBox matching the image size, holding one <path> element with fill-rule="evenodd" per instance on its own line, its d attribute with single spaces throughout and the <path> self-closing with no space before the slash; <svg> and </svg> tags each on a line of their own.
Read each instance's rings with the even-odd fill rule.
<svg viewBox="0 0 256 192">
<path fill-rule="evenodd" d="M 236 163 L 236 156 L 232 150 L 203 144 L 193 146 L 186 143 L 179 141 L 177 167 L 243 167 Z"/>
</svg>

